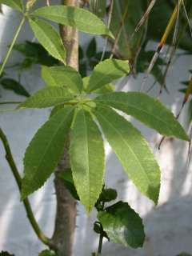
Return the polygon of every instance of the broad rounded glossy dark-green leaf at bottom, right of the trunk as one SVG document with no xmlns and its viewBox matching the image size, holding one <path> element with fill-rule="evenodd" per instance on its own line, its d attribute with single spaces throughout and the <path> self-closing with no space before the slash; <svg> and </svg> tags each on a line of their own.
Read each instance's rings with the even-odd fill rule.
<svg viewBox="0 0 192 256">
<path fill-rule="evenodd" d="M 142 218 L 126 202 L 117 202 L 98 213 L 98 220 L 112 242 L 142 247 L 145 240 Z"/>
</svg>

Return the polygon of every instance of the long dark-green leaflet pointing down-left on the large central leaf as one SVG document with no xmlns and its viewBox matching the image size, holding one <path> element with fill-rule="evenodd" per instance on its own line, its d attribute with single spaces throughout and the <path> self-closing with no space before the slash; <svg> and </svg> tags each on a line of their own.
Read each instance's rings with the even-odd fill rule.
<svg viewBox="0 0 192 256">
<path fill-rule="evenodd" d="M 24 157 L 22 199 L 38 190 L 50 177 L 62 157 L 74 108 L 59 110 L 34 135 Z"/>
</svg>

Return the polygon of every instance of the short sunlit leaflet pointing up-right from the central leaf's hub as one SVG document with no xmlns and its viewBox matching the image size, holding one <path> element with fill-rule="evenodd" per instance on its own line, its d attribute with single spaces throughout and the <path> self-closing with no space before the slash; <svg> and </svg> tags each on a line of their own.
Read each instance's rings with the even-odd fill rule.
<svg viewBox="0 0 192 256">
<path fill-rule="evenodd" d="M 93 90 L 98 90 L 107 83 L 125 77 L 129 72 L 130 66 L 128 61 L 114 58 L 106 59 L 94 67 L 94 70 L 90 75 L 87 91 L 91 92 Z"/>
</svg>

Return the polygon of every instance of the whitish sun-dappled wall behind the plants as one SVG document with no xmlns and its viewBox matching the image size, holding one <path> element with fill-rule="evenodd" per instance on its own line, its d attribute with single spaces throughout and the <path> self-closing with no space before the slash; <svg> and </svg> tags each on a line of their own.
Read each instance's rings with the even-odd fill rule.
<svg viewBox="0 0 192 256">
<path fill-rule="evenodd" d="M 4 8 L 5 15 L 0 16 L 0 58 L 6 52 L 7 45 L 10 42 L 14 30 L 18 24 L 18 13 L 11 12 L 9 8 Z M 24 28 L 18 41 L 31 40 L 28 25 Z M 84 44 L 85 34 L 82 36 Z M 12 54 L 11 62 L 18 62 L 20 56 Z M 9 64 L 8 64 L 9 65 Z M 179 81 L 188 78 L 187 70 L 192 67 L 190 57 L 179 58 L 170 70 L 167 80 L 167 86 L 171 94 L 162 94 L 162 102 L 169 105 L 177 113 L 181 105 L 181 94 L 178 94 L 178 88 L 181 88 Z M 8 71 L 9 72 L 9 71 Z M 10 71 L 12 72 L 12 71 Z M 14 77 L 14 74 L 13 74 Z M 122 90 L 138 90 L 142 77 L 136 80 L 131 78 L 129 81 L 122 79 L 118 88 Z M 22 77 L 22 83 L 30 92 L 38 90 L 43 86 L 40 79 L 40 70 L 35 66 L 30 73 Z M 152 80 L 149 80 L 149 84 Z M 12 92 L 0 88 L 3 100 L 23 100 L 24 98 L 16 96 Z M 157 96 L 157 86 L 151 94 Z M 1 99 L 0 99 L 1 101 Z M 4 106 L 4 108 L 14 106 Z M 0 115 L 0 125 L 6 131 L 13 150 L 14 159 L 18 169 L 22 174 L 22 158 L 26 146 L 34 136 L 38 127 L 46 121 L 50 110 L 22 110 L 17 112 L 5 112 Z M 184 124 L 184 114 L 180 121 Z M 142 216 L 145 222 L 147 239 L 145 246 L 141 250 L 130 250 L 122 246 L 105 242 L 103 255 L 134 255 L 134 256 L 174 256 L 185 250 L 192 253 L 192 175 L 191 168 L 186 167 L 187 146 L 185 142 L 178 140 L 166 139 L 162 149 L 158 151 L 157 146 L 160 136 L 152 130 L 134 122 L 142 130 L 151 148 L 158 159 L 162 170 L 162 187 L 157 207 L 145 197 L 141 196 L 135 189 L 132 182 L 128 180 L 123 173 L 122 166 L 115 155 L 111 152 L 110 147 L 106 145 L 106 185 L 118 190 L 118 200 L 124 200 L 130 203 L 130 206 Z M 34 231 L 26 218 L 22 202 L 19 201 L 19 194 L 10 168 L 4 158 L 4 150 L 0 145 L 0 251 L 9 250 L 16 256 L 29 255 L 36 256 L 44 248 L 41 242 L 38 242 Z M 191 167 L 191 166 L 190 166 Z M 55 195 L 52 178 L 46 185 L 30 197 L 34 214 L 42 229 L 48 236 L 51 236 L 54 225 L 55 214 Z M 75 235 L 74 256 L 90 256 L 91 251 L 96 250 L 98 238 L 92 231 L 95 220 L 95 213 L 89 218 L 86 217 L 85 210 L 78 205 L 77 230 Z"/>
</svg>

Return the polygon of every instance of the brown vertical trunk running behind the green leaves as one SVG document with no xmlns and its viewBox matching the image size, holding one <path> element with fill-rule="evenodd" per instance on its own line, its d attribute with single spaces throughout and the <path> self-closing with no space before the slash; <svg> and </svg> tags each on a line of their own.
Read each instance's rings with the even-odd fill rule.
<svg viewBox="0 0 192 256">
<path fill-rule="evenodd" d="M 63 0 L 66 6 L 78 6 L 78 0 Z M 78 70 L 78 32 L 70 26 L 60 26 L 62 42 L 66 46 L 66 63 Z M 54 186 L 57 197 L 57 212 L 53 244 L 58 256 L 71 256 L 74 243 L 74 230 L 76 222 L 76 202 L 70 192 L 63 186 L 58 175 L 70 168 L 69 140 L 62 158 L 55 171 Z"/>
</svg>

